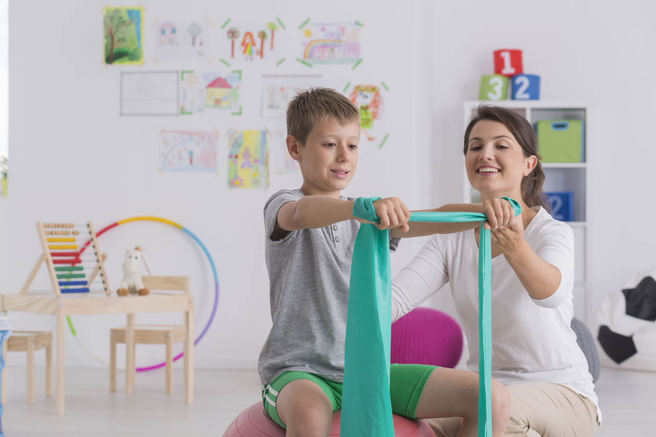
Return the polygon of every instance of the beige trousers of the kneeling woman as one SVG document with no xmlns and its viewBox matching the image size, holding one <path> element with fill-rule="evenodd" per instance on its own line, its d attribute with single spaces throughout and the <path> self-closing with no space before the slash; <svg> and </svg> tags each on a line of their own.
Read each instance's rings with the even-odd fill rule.
<svg viewBox="0 0 656 437">
<path fill-rule="evenodd" d="M 510 420 L 504 437 L 592 437 L 599 428 L 597 409 L 588 398 L 560 384 L 506 385 Z M 438 437 L 456 437 L 460 417 L 428 419 Z"/>
</svg>

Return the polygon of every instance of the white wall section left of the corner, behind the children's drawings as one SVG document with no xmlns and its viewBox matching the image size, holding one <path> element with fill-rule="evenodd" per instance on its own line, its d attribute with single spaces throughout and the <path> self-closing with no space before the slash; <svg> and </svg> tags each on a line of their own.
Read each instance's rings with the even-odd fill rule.
<svg viewBox="0 0 656 437">
<path fill-rule="evenodd" d="M 350 66 L 315 66 L 294 60 L 292 48 L 281 66 L 243 67 L 243 115 L 188 117 L 119 117 L 119 72 L 137 66 L 102 63 L 102 7 L 106 1 L 21 1 L 10 4 L 10 144 L 12 209 L 9 217 L 9 292 L 17 292 L 39 254 L 34 223 L 91 220 L 96 230 L 136 215 L 169 218 L 188 227 L 207 245 L 218 268 L 221 297 L 211 330 L 199 343 L 199 367 L 255 367 L 268 330 L 268 277 L 264 265 L 264 202 L 281 188 L 298 188 L 300 175 L 272 175 L 268 190 L 229 190 L 225 133 L 241 129 L 272 129 L 259 109 L 262 73 L 322 73 L 324 83 L 341 91 L 348 81 L 384 81 L 390 87 L 386 117 L 390 137 L 360 148 L 358 173 L 344 194 L 412 198 L 413 133 L 413 13 L 394 1 L 352 3 L 336 1 L 331 8 L 287 2 L 223 3 L 211 1 L 144 1 L 144 47 L 148 70 L 209 70 L 223 68 L 190 63 L 157 66 L 152 56 L 152 22 L 156 18 L 193 19 L 207 15 L 215 24 L 233 20 L 272 20 L 280 17 L 287 32 L 298 33 L 313 20 L 364 24 L 363 62 Z M 255 7 L 256 6 L 256 7 Z M 405 32 L 390 32 L 390 23 Z M 213 29 L 213 55 L 220 54 L 218 26 Z M 53 37 L 56 35 L 56 37 Z M 290 37 L 289 39 L 293 39 Z M 149 52 L 150 51 L 150 52 Z M 423 92 L 424 89 L 418 90 Z M 425 97 L 424 97 L 425 98 Z M 424 118 L 427 118 L 424 116 Z M 277 122 L 283 123 L 280 120 Z M 157 170 L 157 135 L 163 128 L 211 130 L 221 134 L 218 175 L 163 174 Z M 426 131 L 426 127 L 422 128 Z M 424 134 L 422 141 L 426 142 Z M 426 142 L 427 144 L 427 142 Z M 427 148 L 427 147 L 426 147 Z M 420 157 L 425 161 L 426 157 Z M 391 169 L 391 170 L 390 170 Z M 426 180 L 427 177 L 426 177 Z M 427 186 L 428 184 L 422 184 Z M 428 193 L 428 192 L 426 192 Z M 428 196 L 425 194 L 424 196 Z M 162 224 L 137 222 L 119 226 L 99 238 L 108 253 L 108 276 L 115 289 L 121 278 L 125 249 L 145 247 L 155 274 L 189 275 L 196 296 L 196 330 L 209 317 L 213 281 L 209 266 L 194 243 L 179 230 Z M 398 270 L 412 256 L 406 244 L 394 257 Z M 47 289 L 45 270 L 33 289 Z M 137 323 L 180 320 L 179 315 L 146 314 Z M 19 329 L 52 329 L 49 316 L 14 313 Z M 108 330 L 124 323 L 121 316 L 73 318 L 79 337 L 99 356 L 108 356 Z M 67 333 L 67 363 L 94 365 Z M 139 346 L 141 347 L 141 346 Z M 138 364 L 163 356 L 161 348 L 143 346 Z M 120 359 L 120 358 L 119 358 Z"/>
</svg>

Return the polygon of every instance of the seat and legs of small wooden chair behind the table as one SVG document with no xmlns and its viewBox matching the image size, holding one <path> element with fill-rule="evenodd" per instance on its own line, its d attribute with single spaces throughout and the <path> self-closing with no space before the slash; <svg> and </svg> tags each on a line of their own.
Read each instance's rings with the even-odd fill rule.
<svg viewBox="0 0 656 437">
<path fill-rule="evenodd" d="M 116 391 L 116 344 L 125 343 L 125 331 L 125 326 L 110 331 L 110 392 Z M 184 325 L 134 325 L 134 344 L 166 344 L 167 393 L 173 392 L 173 343 L 185 341 L 186 335 Z"/>
</svg>

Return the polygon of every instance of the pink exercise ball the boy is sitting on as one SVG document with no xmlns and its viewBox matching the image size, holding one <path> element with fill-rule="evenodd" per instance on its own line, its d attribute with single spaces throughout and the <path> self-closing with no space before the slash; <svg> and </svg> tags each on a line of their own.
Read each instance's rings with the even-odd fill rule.
<svg viewBox="0 0 656 437">
<path fill-rule="evenodd" d="M 339 419 L 341 411 L 333 413 L 333 425 L 330 430 L 331 437 L 339 436 Z M 223 433 L 223 437 L 285 437 L 287 431 L 274 422 L 264 412 L 262 402 L 245 409 L 237 419 L 232 421 L 230 427 Z M 415 421 L 400 415 L 394 415 L 394 436 L 396 437 L 436 437 L 428 423 Z"/>
</svg>

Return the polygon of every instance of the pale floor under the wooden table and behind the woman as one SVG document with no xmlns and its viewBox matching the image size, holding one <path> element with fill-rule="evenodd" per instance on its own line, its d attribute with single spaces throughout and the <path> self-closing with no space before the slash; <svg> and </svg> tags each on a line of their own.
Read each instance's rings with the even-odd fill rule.
<svg viewBox="0 0 656 437">
<path fill-rule="evenodd" d="M 212 436 L 220 437 L 245 407 L 260 400 L 255 371 L 197 370 L 195 404 L 184 404 L 182 371 L 174 372 L 173 394 L 164 393 L 164 373 L 138 374 L 134 394 L 108 391 L 105 369 L 66 369 L 66 414 L 45 398 L 43 368 L 35 375 L 35 404 L 26 404 L 25 369 L 10 367 L 7 437 L 31 436 Z M 598 437 L 656 435 L 656 373 L 602 369 L 597 385 L 604 423 Z M 153 434 L 150 434 L 153 432 Z"/>
</svg>

